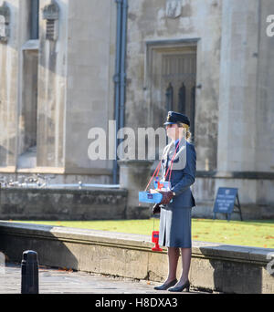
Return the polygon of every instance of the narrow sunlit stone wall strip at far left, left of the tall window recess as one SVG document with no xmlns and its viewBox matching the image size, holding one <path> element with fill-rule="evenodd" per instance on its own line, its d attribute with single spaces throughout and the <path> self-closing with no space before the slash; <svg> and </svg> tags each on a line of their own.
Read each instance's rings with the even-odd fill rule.
<svg viewBox="0 0 274 312">
<path fill-rule="evenodd" d="M 4 1 L 0 1 L 4 5 Z M 20 88 L 18 80 L 20 73 L 20 41 L 21 36 L 26 36 L 24 27 L 19 27 L 14 21 L 24 20 L 26 12 L 20 10 L 20 1 L 9 1 L 10 9 L 10 34 L 7 43 L 0 43 L 0 166 L 15 168 L 17 151 L 17 105 L 19 94 L 15 92 Z M 12 27 L 11 27 L 12 26 Z M 8 74 L 7 74 L 8 73 Z M 20 126 L 19 126 L 20 127 Z"/>
</svg>

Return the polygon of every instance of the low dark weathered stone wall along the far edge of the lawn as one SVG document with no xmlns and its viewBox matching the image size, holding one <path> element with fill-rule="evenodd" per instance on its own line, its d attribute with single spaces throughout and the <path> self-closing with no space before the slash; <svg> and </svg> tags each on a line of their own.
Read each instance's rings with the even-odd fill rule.
<svg viewBox="0 0 274 312">
<path fill-rule="evenodd" d="M 1 220 L 118 220 L 151 217 L 152 204 L 139 205 L 135 191 L 121 189 L 0 189 Z M 213 202 L 198 202 L 194 218 L 213 218 Z M 274 218 L 273 207 L 242 205 L 244 220 Z M 217 219 L 226 219 L 217 213 Z M 240 220 L 232 213 L 231 220 Z"/>
</svg>

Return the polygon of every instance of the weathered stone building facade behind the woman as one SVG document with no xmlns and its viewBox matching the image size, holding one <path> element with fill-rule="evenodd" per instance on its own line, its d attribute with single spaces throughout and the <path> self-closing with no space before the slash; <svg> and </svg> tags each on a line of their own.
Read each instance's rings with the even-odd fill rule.
<svg viewBox="0 0 274 312">
<path fill-rule="evenodd" d="M 90 160 L 90 129 L 111 137 L 118 119 L 118 130 L 158 129 L 174 109 L 193 121 L 195 212 L 212 212 L 227 186 L 238 188 L 247 212 L 274 215 L 271 0 L 0 5 L 2 175 L 116 182 L 116 161 Z"/>
</svg>

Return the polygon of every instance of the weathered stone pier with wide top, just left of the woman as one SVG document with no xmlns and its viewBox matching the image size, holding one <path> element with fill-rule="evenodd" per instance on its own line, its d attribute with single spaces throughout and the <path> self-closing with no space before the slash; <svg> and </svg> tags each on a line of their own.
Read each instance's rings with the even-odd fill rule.
<svg viewBox="0 0 274 312">
<path fill-rule="evenodd" d="M 151 179 L 153 161 L 118 161 L 120 185 L 128 190 L 127 219 L 146 219 L 151 216 L 151 205 L 139 203 L 139 192 L 145 190 Z"/>
</svg>

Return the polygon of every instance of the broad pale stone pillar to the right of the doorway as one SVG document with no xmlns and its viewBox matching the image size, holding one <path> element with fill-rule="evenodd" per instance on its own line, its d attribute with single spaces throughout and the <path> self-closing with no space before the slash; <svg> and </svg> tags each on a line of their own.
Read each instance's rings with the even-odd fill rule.
<svg viewBox="0 0 274 312">
<path fill-rule="evenodd" d="M 258 14 L 257 0 L 223 3 L 218 172 L 256 168 Z"/>
</svg>

